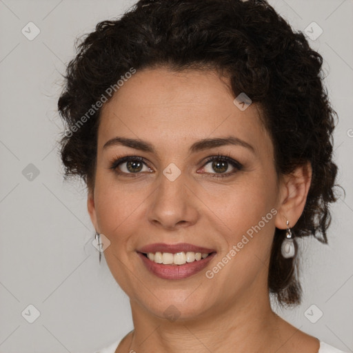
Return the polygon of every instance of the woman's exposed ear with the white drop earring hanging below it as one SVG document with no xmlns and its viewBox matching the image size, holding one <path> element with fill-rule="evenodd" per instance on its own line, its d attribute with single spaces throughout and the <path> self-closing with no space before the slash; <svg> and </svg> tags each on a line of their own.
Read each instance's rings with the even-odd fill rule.
<svg viewBox="0 0 353 353">
<path fill-rule="evenodd" d="M 280 182 L 280 199 L 274 225 L 276 228 L 293 227 L 303 213 L 307 193 L 312 181 L 312 165 L 310 162 L 297 167 L 294 172 L 286 174 Z"/>
</svg>

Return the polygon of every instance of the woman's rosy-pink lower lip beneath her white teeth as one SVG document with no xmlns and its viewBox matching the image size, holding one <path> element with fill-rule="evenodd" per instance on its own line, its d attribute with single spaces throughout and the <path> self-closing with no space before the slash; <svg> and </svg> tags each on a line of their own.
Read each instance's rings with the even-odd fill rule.
<svg viewBox="0 0 353 353">
<path fill-rule="evenodd" d="M 137 254 L 139 254 L 145 267 L 161 279 L 185 279 L 203 270 L 213 259 L 216 252 L 212 252 L 212 254 L 208 255 L 205 259 L 185 263 L 184 265 L 163 265 L 163 263 L 151 261 L 141 254 L 141 252 Z"/>
</svg>

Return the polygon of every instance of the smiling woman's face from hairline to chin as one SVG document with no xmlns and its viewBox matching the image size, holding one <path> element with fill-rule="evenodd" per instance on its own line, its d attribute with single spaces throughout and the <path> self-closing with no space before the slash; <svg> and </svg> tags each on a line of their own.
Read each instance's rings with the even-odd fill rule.
<svg viewBox="0 0 353 353">
<path fill-rule="evenodd" d="M 233 100 L 214 72 L 159 68 L 103 106 L 88 209 L 114 278 L 145 314 L 201 318 L 267 295 L 281 190 L 256 104 Z M 128 156 L 140 160 L 117 163 Z M 154 255 L 166 264 L 141 252 L 168 253 Z M 168 264 L 185 262 L 177 252 L 211 254 Z"/>
</svg>

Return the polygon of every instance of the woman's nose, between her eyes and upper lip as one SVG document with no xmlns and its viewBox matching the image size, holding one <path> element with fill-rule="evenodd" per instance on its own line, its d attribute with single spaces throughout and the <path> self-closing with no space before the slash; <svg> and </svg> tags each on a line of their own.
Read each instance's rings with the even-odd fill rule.
<svg viewBox="0 0 353 353">
<path fill-rule="evenodd" d="M 161 173 L 157 183 L 154 196 L 150 199 L 148 220 L 167 230 L 194 225 L 199 219 L 199 210 L 190 179 L 181 172 L 172 181 Z"/>
</svg>

